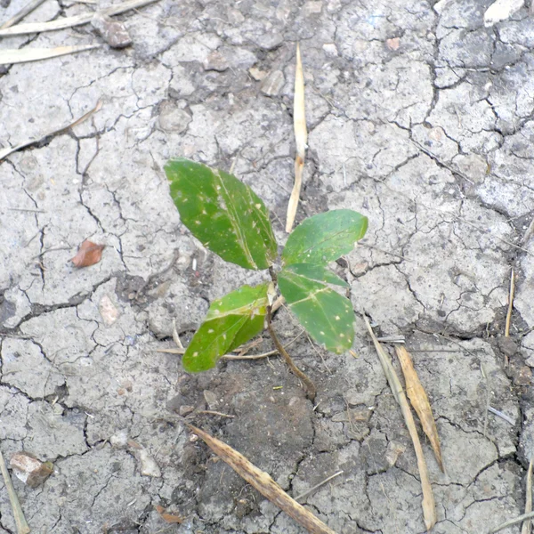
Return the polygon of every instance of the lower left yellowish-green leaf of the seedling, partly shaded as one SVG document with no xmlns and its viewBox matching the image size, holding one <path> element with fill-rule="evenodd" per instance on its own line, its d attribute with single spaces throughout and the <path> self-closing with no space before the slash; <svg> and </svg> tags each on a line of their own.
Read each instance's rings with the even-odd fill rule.
<svg viewBox="0 0 534 534">
<path fill-rule="evenodd" d="M 183 354 L 186 371 L 206 371 L 217 360 L 263 330 L 269 283 L 242 286 L 209 307 L 206 320 L 198 328 Z"/>
</svg>

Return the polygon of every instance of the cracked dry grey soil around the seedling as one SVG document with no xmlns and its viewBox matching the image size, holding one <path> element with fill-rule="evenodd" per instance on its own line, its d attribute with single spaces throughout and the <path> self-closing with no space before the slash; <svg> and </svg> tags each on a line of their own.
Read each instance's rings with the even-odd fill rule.
<svg viewBox="0 0 534 534">
<path fill-rule="evenodd" d="M 27 0 L 4 1 L 7 20 Z M 103 4 L 103 3 L 101 3 Z M 293 182 L 295 43 L 309 150 L 298 221 L 368 215 L 338 262 L 357 312 L 404 336 L 432 402 L 446 473 L 424 442 L 436 534 L 488 532 L 519 515 L 534 453 L 534 18 L 485 28 L 490 0 L 160 0 L 117 17 L 133 45 L 91 25 L 1 48 L 102 46 L 4 67 L 0 148 L 83 124 L 0 163 L 0 447 L 52 460 L 15 489 L 38 534 L 297 534 L 177 415 L 247 455 L 339 534 L 425 531 L 409 434 L 358 315 L 357 358 L 301 336 L 276 357 L 191 376 L 172 348 L 215 298 L 266 279 L 230 267 L 180 223 L 163 166 L 229 169 L 271 210 L 279 239 Z M 24 20 L 93 9 L 46 0 Z M 101 263 L 69 263 L 84 239 Z M 511 269 L 516 295 L 503 337 Z M 288 342 L 301 328 L 275 319 Z M 255 351 L 271 349 L 265 338 Z M 509 360 L 508 365 L 505 361 Z M 508 421 L 488 413 L 499 410 Z M 182 514 L 164 522 L 155 506 Z M 0 490 L 0 532 L 16 531 Z M 503 530 L 518 533 L 515 526 Z"/>
</svg>

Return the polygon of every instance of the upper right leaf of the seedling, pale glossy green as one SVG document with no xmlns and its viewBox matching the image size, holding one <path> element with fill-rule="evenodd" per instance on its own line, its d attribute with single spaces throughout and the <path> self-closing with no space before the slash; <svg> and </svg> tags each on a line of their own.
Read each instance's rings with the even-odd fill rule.
<svg viewBox="0 0 534 534">
<path fill-rule="evenodd" d="M 287 238 L 282 261 L 285 265 L 326 265 L 351 252 L 354 242 L 363 238 L 367 228 L 368 218 L 352 209 L 335 209 L 313 215 L 299 224 Z"/>
</svg>

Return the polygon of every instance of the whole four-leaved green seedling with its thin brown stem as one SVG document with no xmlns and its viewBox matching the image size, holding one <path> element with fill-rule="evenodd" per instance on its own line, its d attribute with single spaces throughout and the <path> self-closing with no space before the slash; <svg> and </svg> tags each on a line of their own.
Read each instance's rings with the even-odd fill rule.
<svg viewBox="0 0 534 534">
<path fill-rule="evenodd" d="M 318 344 L 338 354 L 350 349 L 352 304 L 328 287 L 348 284 L 328 270 L 328 263 L 350 252 L 365 235 L 367 217 L 338 209 L 306 219 L 287 238 L 277 273 L 278 245 L 269 212 L 252 189 L 231 174 L 188 159 L 171 160 L 165 170 L 182 223 L 205 247 L 226 262 L 271 274 L 271 281 L 239 287 L 211 304 L 183 354 L 183 368 L 190 372 L 214 368 L 223 354 L 262 332 L 266 321 L 278 351 L 313 397 L 312 381 L 295 366 L 272 328 L 272 303 L 278 288 Z"/>
</svg>

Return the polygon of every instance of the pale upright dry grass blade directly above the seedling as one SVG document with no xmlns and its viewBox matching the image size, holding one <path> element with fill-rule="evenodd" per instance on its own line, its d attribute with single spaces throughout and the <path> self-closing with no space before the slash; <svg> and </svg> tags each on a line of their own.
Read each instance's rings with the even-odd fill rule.
<svg viewBox="0 0 534 534">
<path fill-rule="evenodd" d="M 289 204 L 287 205 L 286 231 L 293 230 L 295 223 L 296 208 L 298 198 L 303 185 L 304 156 L 306 153 L 306 142 L 308 142 L 308 132 L 306 130 L 306 114 L 304 107 L 304 75 L 303 62 L 301 61 L 300 46 L 296 44 L 296 66 L 295 66 L 295 101 L 293 103 L 293 128 L 295 130 L 296 157 L 295 157 L 295 184 L 291 191 Z"/>
</svg>

